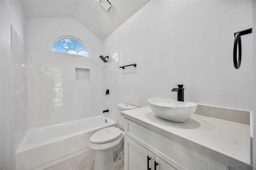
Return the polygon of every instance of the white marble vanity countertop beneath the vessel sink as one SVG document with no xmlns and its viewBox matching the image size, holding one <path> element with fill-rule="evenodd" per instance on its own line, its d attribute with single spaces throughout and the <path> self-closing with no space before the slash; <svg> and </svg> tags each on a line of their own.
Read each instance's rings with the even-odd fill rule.
<svg viewBox="0 0 256 170">
<path fill-rule="evenodd" d="M 157 117 L 150 107 L 121 115 L 237 170 L 252 170 L 249 125 L 197 114 L 176 123 Z"/>
</svg>

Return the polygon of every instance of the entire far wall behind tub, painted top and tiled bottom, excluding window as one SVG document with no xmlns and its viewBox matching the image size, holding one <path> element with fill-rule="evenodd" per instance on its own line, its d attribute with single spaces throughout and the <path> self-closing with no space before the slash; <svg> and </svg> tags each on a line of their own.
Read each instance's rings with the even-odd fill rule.
<svg viewBox="0 0 256 170">
<path fill-rule="evenodd" d="M 102 41 L 72 17 L 28 19 L 28 129 L 102 114 Z M 71 35 L 92 57 L 49 51 L 54 39 Z M 90 69 L 90 81 L 75 80 Z"/>
</svg>

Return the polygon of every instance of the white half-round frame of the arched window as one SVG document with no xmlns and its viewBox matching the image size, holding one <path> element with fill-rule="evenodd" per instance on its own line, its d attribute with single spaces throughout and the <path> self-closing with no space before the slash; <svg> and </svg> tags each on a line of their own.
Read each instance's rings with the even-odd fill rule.
<svg viewBox="0 0 256 170">
<path fill-rule="evenodd" d="M 50 50 L 50 51 L 53 51 L 53 50 L 52 50 L 53 46 L 54 46 L 56 43 L 58 43 L 58 41 L 60 41 L 60 40 L 62 40 L 62 39 L 71 39 L 71 40 L 77 41 L 78 43 L 80 43 L 81 45 L 84 46 L 84 48 L 85 48 L 86 51 L 88 52 L 88 57 L 92 57 L 92 53 L 91 53 L 91 51 L 90 51 L 88 45 L 86 45 L 86 43 L 84 43 L 84 41 L 81 41 L 80 39 L 78 39 L 78 38 L 76 38 L 76 37 L 74 37 L 74 36 L 71 36 L 71 35 L 63 35 L 63 36 L 61 36 L 61 37 L 58 37 L 58 38 L 54 39 L 54 40 L 52 41 L 52 43 L 50 44 L 49 50 Z M 67 51 L 67 50 L 66 50 L 66 51 Z M 75 50 L 75 51 L 76 51 L 76 50 Z M 56 51 L 56 52 L 63 53 L 63 52 L 60 52 L 60 51 Z M 65 54 L 69 54 L 69 53 L 66 53 L 66 52 L 65 52 Z M 73 55 L 74 55 L 74 54 L 73 54 Z M 82 56 L 82 55 L 79 55 L 79 54 L 78 54 L 78 56 Z M 87 56 L 82 56 L 82 57 L 87 57 Z"/>
</svg>

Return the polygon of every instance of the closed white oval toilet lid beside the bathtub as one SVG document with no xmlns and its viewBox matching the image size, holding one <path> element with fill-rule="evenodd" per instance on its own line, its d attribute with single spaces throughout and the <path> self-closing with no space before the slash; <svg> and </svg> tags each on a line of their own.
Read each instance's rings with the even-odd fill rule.
<svg viewBox="0 0 256 170">
<path fill-rule="evenodd" d="M 108 143 L 118 139 L 122 135 L 122 131 L 120 131 L 116 127 L 107 127 L 104 129 L 99 130 L 98 132 L 94 133 L 90 141 L 91 143 Z"/>
</svg>

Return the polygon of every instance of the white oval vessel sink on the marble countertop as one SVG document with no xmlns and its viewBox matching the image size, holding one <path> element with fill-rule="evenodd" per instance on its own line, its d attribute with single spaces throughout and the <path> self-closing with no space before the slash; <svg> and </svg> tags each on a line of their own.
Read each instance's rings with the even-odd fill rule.
<svg viewBox="0 0 256 170">
<path fill-rule="evenodd" d="M 174 122 L 185 122 L 195 113 L 197 104 L 152 98 L 148 99 L 149 107 L 162 119 Z"/>
</svg>

